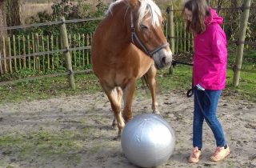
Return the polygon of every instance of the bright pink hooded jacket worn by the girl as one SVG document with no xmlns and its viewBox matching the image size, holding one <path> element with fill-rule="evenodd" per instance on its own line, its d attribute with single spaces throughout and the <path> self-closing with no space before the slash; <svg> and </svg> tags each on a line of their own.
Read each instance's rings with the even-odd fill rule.
<svg viewBox="0 0 256 168">
<path fill-rule="evenodd" d="M 223 19 L 210 9 L 206 31 L 194 36 L 193 85 L 206 90 L 222 90 L 226 82 L 226 34 L 220 24 Z"/>
</svg>

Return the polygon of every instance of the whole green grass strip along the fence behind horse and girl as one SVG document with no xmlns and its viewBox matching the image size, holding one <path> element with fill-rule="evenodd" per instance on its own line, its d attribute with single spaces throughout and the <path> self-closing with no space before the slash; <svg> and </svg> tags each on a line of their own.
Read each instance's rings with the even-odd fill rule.
<svg viewBox="0 0 256 168">
<path fill-rule="evenodd" d="M 252 72 L 241 71 L 238 87 L 234 87 L 232 84 L 234 73 L 231 67 L 234 58 L 234 53 L 229 53 L 226 89 L 222 95 L 226 96 L 226 98 L 246 99 L 256 102 L 256 51 L 250 50 L 244 53 L 242 69 L 251 70 Z M 63 73 L 63 70 L 48 72 L 48 74 L 56 73 Z M 43 75 L 42 72 L 35 73 L 30 70 L 22 70 L 14 74 L 2 75 L 0 81 L 11 81 L 40 75 Z M 60 98 L 78 94 L 94 94 L 102 91 L 98 78 L 92 73 L 75 74 L 75 90 L 70 89 L 66 76 L 27 80 L 2 86 L 1 82 L 0 93 L 4 96 L 0 97 L 0 103 Z M 191 66 L 178 65 L 174 68 L 174 74 L 172 75 L 169 74 L 168 69 L 158 70 L 157 82 L 158 93 L 174 91 L 175 93 L 186 94 L 186 90 L 189 90 L 191 87 Z M 144 89 L 141 80 L 138 80 L 137 88 L 136 94 L 140 96 L 141 92 L 139 89 Z"/>
</svg>

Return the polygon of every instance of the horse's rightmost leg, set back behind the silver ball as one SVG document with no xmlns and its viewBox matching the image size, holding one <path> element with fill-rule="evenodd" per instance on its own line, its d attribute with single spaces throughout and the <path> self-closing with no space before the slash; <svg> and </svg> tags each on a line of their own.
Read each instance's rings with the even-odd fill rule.
<svg viewBox="0 0 256 168">
<path fill-rule="evenodd" d="M 158 110 L 158 102 L 156 99 L 156 88 L 157 83 L 155 80 L 155 76 L 157 74 L 157 69 L 154 67 L 154 65 L 150 66 L 150 69 L 146 72 L 146 82 L 148 83 L 150 94 L 152 98 L 152 110 L 154 114 L 160 114 Z"/>
</svg>

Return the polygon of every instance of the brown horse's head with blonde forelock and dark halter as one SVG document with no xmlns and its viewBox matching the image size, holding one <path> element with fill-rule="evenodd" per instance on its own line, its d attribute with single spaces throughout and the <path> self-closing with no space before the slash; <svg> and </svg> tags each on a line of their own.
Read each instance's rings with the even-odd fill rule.
<svg viewBox="0 0 256 168">
<path fill-rule="evenodd" d="M 170 66 L 172 52 L 162 31 L 162 14 L 151 0 L 130 0 L 131 40 L 154 59 L 158 69 Z"/>
</svg>

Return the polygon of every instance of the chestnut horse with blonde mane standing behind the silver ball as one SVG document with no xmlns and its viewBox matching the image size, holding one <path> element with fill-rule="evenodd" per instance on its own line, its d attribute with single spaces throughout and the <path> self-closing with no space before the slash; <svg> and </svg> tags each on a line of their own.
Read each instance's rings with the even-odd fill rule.
<svg viewBox="0 0 256 168">
<path fill-rule="evenodd" d="M 125 122 L 132 118 L 135 82 L 143 75 L 150 89 L 153 113 L 159 114 L 155 76 L 157 69 L 170 66 L 172 61 L 161 25 L 161 10 L 152 0 L 118 0 L 110 4 L 106 18 L 95 30 L 92 66 L 114 112 L 118 139 Z"/>
</svg>

